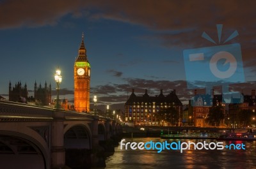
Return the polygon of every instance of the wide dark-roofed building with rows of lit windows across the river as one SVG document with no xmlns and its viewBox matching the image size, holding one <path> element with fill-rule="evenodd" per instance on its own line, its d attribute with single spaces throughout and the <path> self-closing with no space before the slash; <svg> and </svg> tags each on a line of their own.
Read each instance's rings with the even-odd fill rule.
<svg viewBox="0 0 256 169">
<path fill-rule="evenodd" d="M 159 95 L 149 96 L 146 89 L 143 96 L 136 96 L 132 89 L 132 94 L 125 103 L 125 122 L 133 122 L 134 125 L 159 125 L 156 113 L 168 107 L 174 107 L 177 110 L 179 113 L 177 125 L 181 126 L 182 103 L 175 90 L 164 96 L 161 89 Z"/>
</svg>

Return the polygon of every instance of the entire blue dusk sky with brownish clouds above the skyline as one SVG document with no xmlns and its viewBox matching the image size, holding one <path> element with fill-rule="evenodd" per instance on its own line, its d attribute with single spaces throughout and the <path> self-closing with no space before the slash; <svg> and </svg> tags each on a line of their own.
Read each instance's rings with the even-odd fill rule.
<svg viewBox="0 0 256 169">
<path fill-rule="evenodd" d="M 183 51 L 221 45 L 234 31 L 239 35 L 225 45 L 241 45 L 245 82 L 232 90 L 250 94 L 256 89 L 256 2 L 195 2 L 0 0 L 0 95 L 8 98 L 9 82 L 19 81 L 29 95 L 35 81 L 46 81 L 54 95 L 59 67 L 61 98 L 74 101 L 74 61 L 84 33 L 90 96 L 97 95 L 99 105 L 122 108 L 132 89 L 138 96 L 176 89 L 186 103 L 193 89 Z M 223 24 L 220 43 L 216 24 Z M 217 43 L 202 38 L 204 32 Z"/>
</svg>

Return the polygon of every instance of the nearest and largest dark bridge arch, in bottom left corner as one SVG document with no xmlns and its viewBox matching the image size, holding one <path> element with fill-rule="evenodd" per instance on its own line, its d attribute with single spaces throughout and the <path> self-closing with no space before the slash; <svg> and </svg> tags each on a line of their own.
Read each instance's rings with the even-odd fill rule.
<svg viewBox="0 0 256 169">
<path fill-rule="evenodd" d="M 0 131 L 0 159 L 1 168 L 10 169 L 49 169 L 51 163 L 49 152 L 40 141 L 25 133 L 8 130 Z"/>
</svg>

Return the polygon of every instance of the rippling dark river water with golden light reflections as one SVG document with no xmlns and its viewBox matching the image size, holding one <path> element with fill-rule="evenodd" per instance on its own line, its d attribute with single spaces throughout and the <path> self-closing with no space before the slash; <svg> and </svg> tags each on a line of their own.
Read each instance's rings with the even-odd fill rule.
<svg viewBox="0 0 256 169">
<path fill-rule="evenodd" d="M 161 138 L 134 138 L 133 142 L 164 142 Z M 169 139 L 168 142 L 179 140 Z M 181 140 L 182 142 L 204 142 L 204 140 Z M 216 140 L 205 140 L 206 142 L 217 142 Z M 131 139 L 125 139 L 131 142 Z M 223 145 L 242 142 L 224 142 Z M 186 150 L 180 151 L 164 150 L 120 150 L 115 148 L 115 154 L 106 159 L 106 168 L 256 168 L 256 142 L 243 142 L 246 150 Z"/>
</svg>

